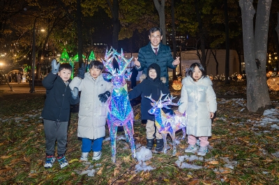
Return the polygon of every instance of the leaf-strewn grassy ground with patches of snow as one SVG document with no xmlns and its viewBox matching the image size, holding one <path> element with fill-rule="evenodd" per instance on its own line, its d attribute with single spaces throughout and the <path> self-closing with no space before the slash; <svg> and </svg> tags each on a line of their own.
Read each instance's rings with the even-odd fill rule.
<svg viewBox="0 0 279 185">
<path fill-rule="evenodd" d="M 99 161 L 79 161 L 81 140 L 77 138 L 75 107 L 68 128 L 69 166 L 45 170 L 45 138 L 40 113 L 44 93 L 0 92 L 0 184 L 279 184 L 279 102 L 262 113 L 247 113 L 245 83 L 224 86 L 214 83 L 218 111 L 213 120 L 209 153 L 204 157 L 186 154 L 186 140 L 177 140 L 177 154 L 153 153 L 148 161 L 131 158 L 129 144 L 119 131 L 116 163 L 111 161 L 107 132 Z M 179 91 L 174 91 L 174 95 Z M 137 151 L 146 145 L 145 124 L 140 120 L 140 104 L 135 112 Z M 176 109 L 174 107 L 174 109 Z M 181 131 L 176 134 L 181 138 Z M 92 156 L 92 154 L 91 154 Z M 142 170 L 141 170 L 142 169 Z M 147 170 L 149 169 L 149 170 Z"/>
</svg>

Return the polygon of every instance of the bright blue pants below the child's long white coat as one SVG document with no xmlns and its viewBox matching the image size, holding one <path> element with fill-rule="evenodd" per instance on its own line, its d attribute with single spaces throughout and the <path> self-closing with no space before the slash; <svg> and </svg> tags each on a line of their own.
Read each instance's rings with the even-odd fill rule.
<svg viewBox="0 0 279 185">
<path fill-rule="evenodd" d="M 93 144 L 92 144 L 93 143 Z M 99 152 L 102 150 L 103 138 L 89 139 L 82 138 L 82 152 Z"/>
</svg>

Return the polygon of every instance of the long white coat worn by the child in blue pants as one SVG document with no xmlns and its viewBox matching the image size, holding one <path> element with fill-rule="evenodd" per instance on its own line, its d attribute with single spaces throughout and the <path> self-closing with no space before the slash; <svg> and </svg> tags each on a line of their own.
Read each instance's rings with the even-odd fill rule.
<svg viewBox="0 0 279 185">
<path fill-rule="evenodd" d="M 80 138 L 97 139 L 105 136 L 105 123 L 107 118 L 107 102 L 102 103 L 98 95 L 111 90 L 112 83 L 107 82 L 100 75 L 96 81 L 89 72 L 84 79 L 75 77 L 70 82 L 70 88 L 79 88 L 80 111 L 77 127 L 77 136 Z"/>
</svg>

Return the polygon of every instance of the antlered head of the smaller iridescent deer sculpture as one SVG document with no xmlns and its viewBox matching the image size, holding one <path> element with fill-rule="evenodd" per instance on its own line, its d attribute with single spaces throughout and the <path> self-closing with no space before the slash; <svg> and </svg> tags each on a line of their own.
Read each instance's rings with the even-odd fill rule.
<svg viewBox="0 0 279 185">
<path fill-rule="evenodd" d="M 166 97 L 165 97 L 165 99 L 163 99 L 162 100 L 162 97 L 164 97 L 166 94 L 163 94 L 162 93 L 162 91 L 161 91 L 161 95 L 160 95 L 160 97 L 159 97 L 159 99 L 158 99 L 158 101 L 156 102 L 154 99 L 152 99 L 151 98 L 151 95 L 149 96 L 149 97 L 146 97 L 146 98 L 148 98 L 148 99 L 150 99 L 151 100 L 151 105 L 153 106 L 150 110 L 149 110 L 149 113 L 150 114 L 158 114 L 158 113 L 160 113 L 160 109 L 161 108 L 167 108 L 167 109 L 170 109 L 169 107 L 168 107 L 168 105 L 174 105 L 174 106 L 179 106 L 180 104 L 181 104 L 181 102 L 180 102 L 180 99 L 179 99 L 179 102 L 177 102 L 177 103 L 173 103 L 172 102 L 172 99 L 175 99 L 176 97 L 173 97 L 172 95 L 170 95 L 170 97 L 169 97 L 169 95 L 167 95 Z"/>
</svg>

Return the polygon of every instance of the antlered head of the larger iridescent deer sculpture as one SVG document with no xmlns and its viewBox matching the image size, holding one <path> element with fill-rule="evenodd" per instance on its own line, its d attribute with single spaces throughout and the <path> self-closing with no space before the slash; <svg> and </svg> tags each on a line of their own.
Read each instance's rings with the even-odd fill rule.
<svg viewBox="0 0 279 185">
<path fill-rule="evenodd" d="M 119 70 L 114 69 L 112 61 L 116 60 L 119 64 Z M 103 74 L 105 79 L 112 79 L 114 88 L 121 88 L 126 85 L 126 80 L 130 79 L 131 72 L 125 73 L 127 66 L 132 61 L 133 57 L 126 59 L 121 49 L 119 54 L 115 49 L 111 48 L 110 51 L 105 51 L 105 61 L 102 58 L 103 64 L 105 65 L 106 71 L 110 74 Z"/>
</svg>

